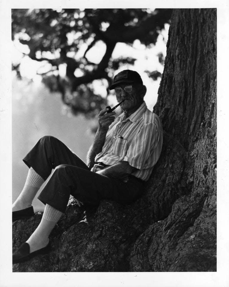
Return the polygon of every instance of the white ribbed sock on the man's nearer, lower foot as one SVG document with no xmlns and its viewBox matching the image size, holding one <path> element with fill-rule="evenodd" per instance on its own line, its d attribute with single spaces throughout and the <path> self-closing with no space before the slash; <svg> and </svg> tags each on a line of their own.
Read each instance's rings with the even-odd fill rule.
<svg viewBox="0 0 229 287">
<path fill-rule="evenodd" d="M 30 246 L 30 253 L 41 249 L 48 244 L 48 236 L 63 214 L 64 213 L 55 209 L 54 207 L 48 204 L 45 205 L 45 210 L 40 224 L 26 241 Z"/>
</svg>

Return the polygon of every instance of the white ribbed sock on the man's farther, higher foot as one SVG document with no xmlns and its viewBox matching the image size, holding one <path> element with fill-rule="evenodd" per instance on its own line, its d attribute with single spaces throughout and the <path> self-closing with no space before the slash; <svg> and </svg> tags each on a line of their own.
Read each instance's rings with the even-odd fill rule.
<svg viewBox="0 0 229 287">
<path fill-rule="evenodd" d="M 17 211 L 32 206 L 32 201 L 43 182 L 43 178 L 30 167 L 25 185 L 19 197 L 13 203 L 12 210 Z"/>
</svg>

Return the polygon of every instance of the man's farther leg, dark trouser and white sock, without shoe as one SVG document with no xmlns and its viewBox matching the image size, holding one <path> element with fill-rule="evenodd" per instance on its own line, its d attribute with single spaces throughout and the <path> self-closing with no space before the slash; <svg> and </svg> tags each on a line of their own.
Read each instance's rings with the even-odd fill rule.
<svg viewBox="0 0 229 287">
<path fill-rule="evenodd" d="M 25 186 L 13 204 L 13 211 L 31 207 L 37 191 L 56 166 L 71 164 L 88 169 L 87 165 L 74 152 L 52 136 L 42 137 L 23 161 L 30 169 Z"/>
</svg>

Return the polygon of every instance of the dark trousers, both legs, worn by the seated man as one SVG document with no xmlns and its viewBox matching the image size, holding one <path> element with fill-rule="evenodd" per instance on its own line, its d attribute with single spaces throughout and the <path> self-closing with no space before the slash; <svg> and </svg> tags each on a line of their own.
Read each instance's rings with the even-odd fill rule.
<svg viewBox="0 0 229 287">
<path fill-rule="evenodd" d="M 38 199 L 63 213 L 70 195 L 90 205 L 99 204 L 101 199 L 129 204 L 143 192 L 143 181 L 134 176 L 129 176 L 129 181 L 124 183 L 91 172 L 74 152 L 52 136 L 41 138 L 23 161 L 44 180 L 54 169 Z"/>
</svg>

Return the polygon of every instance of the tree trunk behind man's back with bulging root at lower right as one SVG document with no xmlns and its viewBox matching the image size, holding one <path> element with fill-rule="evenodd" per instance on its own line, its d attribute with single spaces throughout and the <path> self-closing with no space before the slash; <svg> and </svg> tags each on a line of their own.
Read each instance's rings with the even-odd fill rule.
<svg viewBox="0 0 229 287">
<path fill-rule="evenodd" d="M 154 111 L 164 128 L 147 188 L 155 223 L 130 269 L 216 271 L 216 9 L 173 11 Z"/>
</svg>

